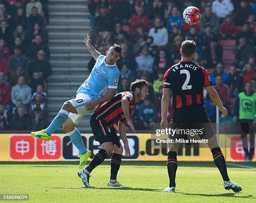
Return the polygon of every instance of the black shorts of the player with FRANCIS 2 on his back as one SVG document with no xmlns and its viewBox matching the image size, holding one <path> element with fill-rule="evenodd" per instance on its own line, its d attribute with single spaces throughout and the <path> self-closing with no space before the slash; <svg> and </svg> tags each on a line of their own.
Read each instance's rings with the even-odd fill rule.
<svg viewBox="0 0 256 203">
<path fill-rule="evenodd" d="M 205 113 L 205 107 L 202 105 L 195 105 L 174 109 L 171 127 L 174 129 L 189 130 L 190 134 L 197 132 L 201 139 L 210 139 L 215 136 L 215 131 L 210 124 L 210 120 Z M 180 132 L 183 132 L 180 130 Z M 202 133 L 201 133 L 202 132 Z M 177 134 L 173 138 L 187 139 L 187 134 Z"/>
</svg>

